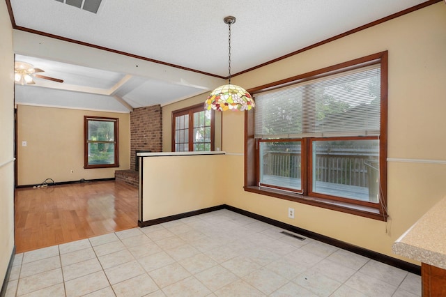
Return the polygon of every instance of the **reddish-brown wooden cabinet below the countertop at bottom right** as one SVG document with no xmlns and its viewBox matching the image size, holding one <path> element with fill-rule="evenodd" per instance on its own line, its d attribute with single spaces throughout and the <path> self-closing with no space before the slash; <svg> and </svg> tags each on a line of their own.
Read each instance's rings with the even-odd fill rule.
<svg viewBox="0 0 446 297">
<path fill-rule="evenodd" d="M 421 264 L 422 296 L 443 297 L 446 296 L 446 270 Z"/>
</svg>

